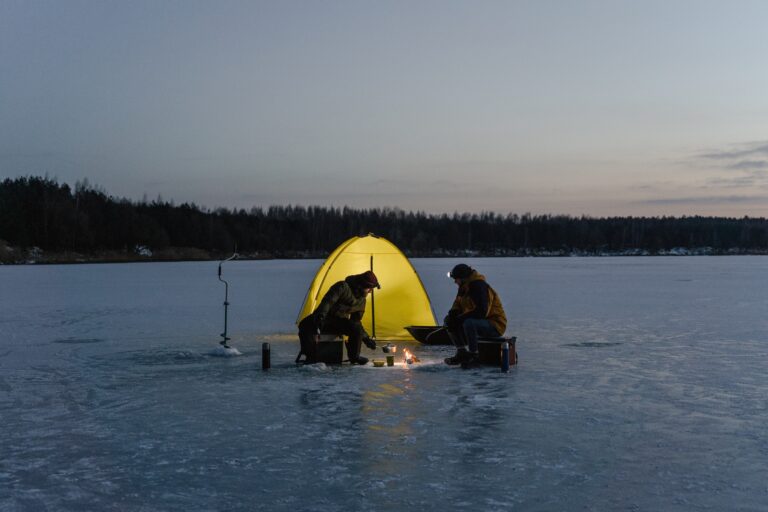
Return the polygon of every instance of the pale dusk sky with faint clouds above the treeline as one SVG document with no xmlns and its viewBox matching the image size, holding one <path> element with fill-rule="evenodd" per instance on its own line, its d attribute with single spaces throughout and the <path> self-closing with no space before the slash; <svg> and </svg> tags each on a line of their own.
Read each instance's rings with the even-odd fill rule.
<svg viewBox="0 0 768 512">
<path fill-rule="evenodd" d="M 768 216 L 764 1 L 0 0 L 0 179 Z"/>
</svg>

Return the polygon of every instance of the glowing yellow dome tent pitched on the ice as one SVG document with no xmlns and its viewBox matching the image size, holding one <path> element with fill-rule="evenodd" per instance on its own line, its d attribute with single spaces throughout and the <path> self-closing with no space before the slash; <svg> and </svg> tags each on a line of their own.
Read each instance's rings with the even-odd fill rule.
<svg viewBox="0 0 768 512">
<path fill-rule="evenodd" d="M 368 296 L 363 326 L 372 336 L 412 340 L 407 325 L 435 325 L 435 315 L 424 285 L 400 249 L 373 234 L 350 238 L 320 266 L 309 286 L 297 323 L 312 313 L 325 292 L 350 274 L 373 270 L 381 289 Z"/>
</svg>

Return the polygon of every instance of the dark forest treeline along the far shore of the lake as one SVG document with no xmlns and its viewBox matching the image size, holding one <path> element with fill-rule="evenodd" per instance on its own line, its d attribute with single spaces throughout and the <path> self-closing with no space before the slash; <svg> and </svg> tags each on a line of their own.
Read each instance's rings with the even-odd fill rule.
<svg viewBox="0 0 768 512">
<path fill-rule="evenodd" d="M 324 256 L 350 236 L 384 236 L 410 256 L 566 253 L 649 254 L 674 248 L 768 252 L 768 221 L 722 217 L 572 217 L 399 209 L 270 206 L 208 210 L 195 204 L 129 201 L 78 182 L 22 177 L 0 184 L 0 239 L 8 246 L 96 254 L 194 248 L 217 257 Z"/>
</svg>

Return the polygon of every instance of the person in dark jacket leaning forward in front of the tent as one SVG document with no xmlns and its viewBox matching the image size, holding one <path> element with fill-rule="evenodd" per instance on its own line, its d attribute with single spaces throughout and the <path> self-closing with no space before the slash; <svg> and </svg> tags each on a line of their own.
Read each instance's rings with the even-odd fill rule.
<svg viewBox="0 0 768 512">
<path fill-rule="evenodd" d="M 370 270 L 362 274 L 347 276 L 331 286 L 312 314 L 299 322 L 299 339 L 302 351 L 314 346 L 318 334 L 347 336 L 347 356 L 352 364 L 366 364 L 367 357 L 360 355 L 360 344 L 376 348 L 376 341 L 365 331 L 361 320 L 365 313 L 365 300 L 373 288 L 381 288 L 376 275 Z M 312 350 L 305 351 L 307 363 L 316 362 Z"/>
</svg>

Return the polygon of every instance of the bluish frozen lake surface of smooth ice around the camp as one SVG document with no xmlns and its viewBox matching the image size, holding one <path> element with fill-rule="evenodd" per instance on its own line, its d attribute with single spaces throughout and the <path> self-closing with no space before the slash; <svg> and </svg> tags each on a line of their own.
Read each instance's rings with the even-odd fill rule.
<svg viewBox="0 0 768 512">
<path fill-rule="evenodd" d="M 225 264 L 234 358 L 215 262 L 0 267 L 0 510 L 768 510 L 768 258 L 465 261 L 508 374 L 295 367 L 317 260 Z"/>
</svg>

